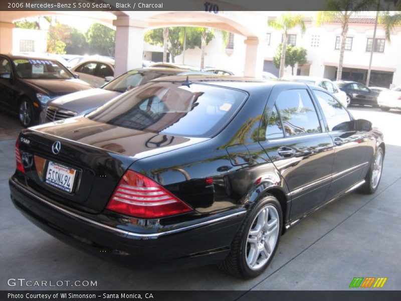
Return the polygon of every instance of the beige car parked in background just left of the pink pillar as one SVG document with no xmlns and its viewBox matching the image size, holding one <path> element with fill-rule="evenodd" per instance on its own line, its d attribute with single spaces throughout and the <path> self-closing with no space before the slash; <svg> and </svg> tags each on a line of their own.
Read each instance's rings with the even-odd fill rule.
<svg viewBox="0 0 401 301">
<path fill-rule="evenodd" d="M 114 61 L 88 60 L 72 67 L 71 72 L 79 75 L 95 88 L 103 86 L 114 79 Z"/>
</svg>

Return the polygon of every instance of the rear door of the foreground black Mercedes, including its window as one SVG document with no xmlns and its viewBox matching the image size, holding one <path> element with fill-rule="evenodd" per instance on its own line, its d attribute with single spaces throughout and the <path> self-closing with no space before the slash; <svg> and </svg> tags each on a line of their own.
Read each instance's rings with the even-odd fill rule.
<svg viewBox="0 0 401 301">
<path fill-rule="evenodd" d="M 266 108 L 266 140 L 260 141 L 288 189 L 290 218 L 298 219 L 323 204 L 331 182 L 334 145 L 322 130 L 320 112 L 306 85 L 277 85 Z M 301 87 L 301 88 L 300 88 Z"/>
</svg>

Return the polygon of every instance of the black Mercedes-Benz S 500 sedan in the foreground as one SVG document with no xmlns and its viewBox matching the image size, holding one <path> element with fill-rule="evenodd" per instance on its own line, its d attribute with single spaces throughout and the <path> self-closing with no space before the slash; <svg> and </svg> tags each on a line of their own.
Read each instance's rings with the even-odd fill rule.
<svg viewBox="0 0 401 301">
<path fill-rule="evenodd" d="M 374 193 L 384 153 L 382 134 L 317 86 L 174 76 L 24 129 L 10 189 L 39 227 L 102 257 L 250 278 L 298 221 Z"/>
</svg>

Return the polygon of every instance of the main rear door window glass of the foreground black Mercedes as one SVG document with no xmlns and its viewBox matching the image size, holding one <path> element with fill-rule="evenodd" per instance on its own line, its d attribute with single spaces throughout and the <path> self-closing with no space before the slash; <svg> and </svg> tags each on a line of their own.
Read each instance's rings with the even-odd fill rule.
<svg viewBox="0 0 401 301">
<path fill-rule="evenodd" d="M 286 136 L 322 131 L 315 106 L 306 89 L 293 89 L 280 93 L 276 105 L 280 111 Z"/>
</svg>

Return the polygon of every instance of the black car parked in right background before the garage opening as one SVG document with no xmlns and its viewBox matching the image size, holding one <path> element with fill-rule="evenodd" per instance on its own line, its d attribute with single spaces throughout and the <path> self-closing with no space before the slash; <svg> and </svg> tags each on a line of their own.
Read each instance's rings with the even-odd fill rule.
<svg viewBox="0 0 401 301">
<path fill-rule="evenodd" d="M 347 94 L 347 103 L 349 105 L 371 105 L 378 107 L 377 97 L 379 92 L 373 91 L 365 85 L 353 81 L 335 81 L 334 84 Z"/>
</svg>

